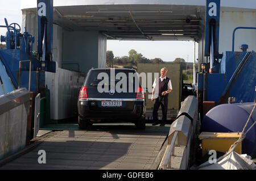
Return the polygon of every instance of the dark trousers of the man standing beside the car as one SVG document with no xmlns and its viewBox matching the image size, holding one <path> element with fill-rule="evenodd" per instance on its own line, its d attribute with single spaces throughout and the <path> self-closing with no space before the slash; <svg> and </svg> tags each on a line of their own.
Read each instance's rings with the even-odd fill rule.
<svg viewBox="0 0 256 181">
<path fill-rule="evenodd" d="M 154 99 L 154 107 L 153 107 L 153 121 L 154 123 L 158 123 L 158 109 L 161 105 L 162 108 L 162 124 L 166 123 L 167 118 L 167 110 L 168 110 L 168 94 L 164 96 L 158 96 L 158 98 Z"/>
</svg>

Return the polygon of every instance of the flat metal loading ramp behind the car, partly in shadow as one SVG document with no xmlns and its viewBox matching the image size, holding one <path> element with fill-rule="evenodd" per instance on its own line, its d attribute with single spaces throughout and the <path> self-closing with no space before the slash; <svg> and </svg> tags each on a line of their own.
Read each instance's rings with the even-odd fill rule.
<svg viewBox="0 0 256 181">
<path fill-rule="evenodd" d="M 35 149 L 0 169 L 152 169 L 167 134 L 168 129 L 51 132 Z M 45 164 L 38 163 L 39 150 L 46 151 Z"/>
</svg>

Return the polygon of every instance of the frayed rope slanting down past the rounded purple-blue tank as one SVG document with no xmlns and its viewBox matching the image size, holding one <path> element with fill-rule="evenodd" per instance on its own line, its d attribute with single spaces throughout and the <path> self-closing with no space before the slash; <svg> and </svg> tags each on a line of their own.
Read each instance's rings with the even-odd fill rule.
<svg viewBox="0 0 256 181">
<path fill-rule="evenodd" d="M 253 123 L 253 125 L 251 125 L 251 127 L 245 132 L 245 128 L 247 127 L 247 124 L 249 123 L 249 120 L 251 118 L 251 115 L 253 114 L 253 111 L 255 109 L 255 106 L 256 106 L 256 103 L 254 103 L 254 107 L 253 107 L 253 110 L 251 111 L 250 113 L 250 116 L 248 117 L 247 121 L 246 121 L 246 124 L 245 124 L 245 127 L 243 127 L 243 131 L 241 133 L 241 136 L 238 138 L 238 140 L 236 142 L 234 142 L 233 145 L 230 146 L 228 152 L 226 152 L 224 155 L 222 155 L 220 158 L 217 159 L 216 163 L 221 161 L 223 158 L 225 158 L 226 156 L 228 156 L 230 153 L 232 153 L 232 151 L 237 147 L 238 143 L 243 141 L 243 139 L 245 138 L 246 134 L 250 131 L 251 128 L 253 128 L 253 126 L 256 124 L 256 121 Z M 245 132 L 245 133 L 244 133 Z M 202 168 L 202 167 L 206 167 L 208 165 L 212 165 L 212 163 L 208 163 L 207 165 L 204 165 L 204 166 L 199 166 L 199 168 Z"/>
</svg>

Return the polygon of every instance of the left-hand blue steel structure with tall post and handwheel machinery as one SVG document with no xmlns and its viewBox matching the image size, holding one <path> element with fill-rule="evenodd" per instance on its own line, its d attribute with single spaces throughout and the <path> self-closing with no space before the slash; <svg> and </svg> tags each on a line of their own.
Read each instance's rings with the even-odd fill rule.
<svg viewBox="0 0 256 181">
<path fill-rule="evenodd" d="M 6 25 L 0 26 L 7 28 L 6 36 L 1 36 L 6 49 L 0 49 L 0 95 L 18 87 L 30 87 L 30 91 L 44 95 L 45 71 L 56 69 L 52 60 L 52 14 L 52 0 L 38 0 L 38 52 L 32 50 L 34 36 L 20 33 L 19 24 L 9 25 L 5 19 Z"/>
</svg>

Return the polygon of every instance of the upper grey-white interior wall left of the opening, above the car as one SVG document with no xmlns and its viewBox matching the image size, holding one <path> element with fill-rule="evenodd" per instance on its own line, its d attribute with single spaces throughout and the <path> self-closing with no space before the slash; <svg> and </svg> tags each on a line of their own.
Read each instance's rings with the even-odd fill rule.
<svg viewBox="0 0 256 181">
<path fill-rule="evenodd" d="M 63 69 L 87 73 L 106 65 L 106 38 L 97 31 L 64 31 Z"/>
</svg>

